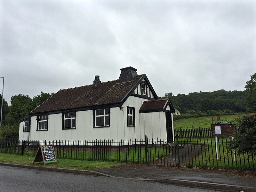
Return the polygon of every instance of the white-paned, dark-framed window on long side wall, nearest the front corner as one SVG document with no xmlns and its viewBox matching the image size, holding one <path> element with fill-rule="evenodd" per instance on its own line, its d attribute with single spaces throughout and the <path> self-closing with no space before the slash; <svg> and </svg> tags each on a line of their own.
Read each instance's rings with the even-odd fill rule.
<svg viewBox="0 0 256 192">
<path fill-rule="evenodd" d="M 94 110 L 94 127 L 109 126 L 109 108 Z"/>
</svg>

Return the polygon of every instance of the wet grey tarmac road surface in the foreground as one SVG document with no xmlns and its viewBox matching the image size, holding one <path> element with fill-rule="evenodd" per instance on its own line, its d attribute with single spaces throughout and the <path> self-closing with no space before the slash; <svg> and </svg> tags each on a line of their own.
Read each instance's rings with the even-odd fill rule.
<svg viewBox="0 0 256 192">
<path fill-rule="evenodd" d="M 179 191 L 213 192 L 215 190 L 189 188 L 151 181 L 120 179 L 62 172 L 0 166 L 1 192 L 114 192 L 114 191 Z"/>
</svg>

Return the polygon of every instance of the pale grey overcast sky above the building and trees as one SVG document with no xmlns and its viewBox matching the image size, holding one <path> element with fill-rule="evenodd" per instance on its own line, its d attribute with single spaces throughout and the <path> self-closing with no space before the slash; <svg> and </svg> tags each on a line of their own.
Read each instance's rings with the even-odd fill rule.
<svg viewBox="0 0 256 192">
<path fill-rule="evenodd" d="M 4 98 L 146 74 L 166 92 L 245 90 L 256 73 L 256 1 L 0 1 Z M 0 92 L 2 93 L 2 79 Z"/>
</svg>

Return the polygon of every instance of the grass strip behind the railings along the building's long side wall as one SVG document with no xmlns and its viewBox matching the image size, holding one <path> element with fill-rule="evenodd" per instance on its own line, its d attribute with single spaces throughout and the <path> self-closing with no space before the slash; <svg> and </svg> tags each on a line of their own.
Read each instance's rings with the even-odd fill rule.
<svg viewBox="0 0 256 192">
<path fill-rule="evenodd" d="M 169 153 L 168 149 L 161 147 L 149 148 L 148 153 L 151 154 L 148 158 L 149 163 L 155 162 L 159 157 L 164 157 Z M 23 154 L 24 156 L 18 156 L 22 159 L 22 162 L 31 164 L 33 163 L 34 157 L 36 156 L 36 148 L 22 151 L 17 148 L 9 148 L 7 154 Z M 0 154 L 5 154 L 4 152 Z M 101 164 L 110 164 L 111 162 L 122 163 L 133 163 L 133 164 L 146 164 L 145 147 L 127 147 L 127 148 L 55 148 L 55 154 L 58 162 L 62 161 L 74 161 L 72 164 L 77 162 L 102 162 Z M 5 154 L 6 155 L 6 154 Z M 0 157 L 0 161 L 2 156 Z M 10 158 L 9 160 L 11 160 Z M 4 159 L 5 161 L 8 160 Z M 29 161 L 28 161 L 29 160 Z M 19 162 L 19 160 L 17 161 Z M 108 162 L 108 163 L 106 163 Z M 15 163 L 15 162 L 13 162 Z M 37 164 L 37 163 L 36 163 Z M 95 163 L 97 165 L 97 163 Z M 96 166 L 95 165 L 95 166 Z M 48 166 L 48 165 L 47 165 Z M 60 165 L 49 165 L 59 167 Z M 68 164 L 65 166 L 68 166 Z M 80 166 L 80 165 L 79 165 Z M 84 166 L 84 165 L 83 165 Z"/>
</svg>

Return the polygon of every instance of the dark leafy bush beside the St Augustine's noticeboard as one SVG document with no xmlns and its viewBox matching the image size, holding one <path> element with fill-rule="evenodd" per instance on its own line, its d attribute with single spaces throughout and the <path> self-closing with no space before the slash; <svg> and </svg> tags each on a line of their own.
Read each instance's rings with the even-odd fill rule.
<svg viewBox="0 0 256 192">
<path fill-rule="evenodd" d="M 256 114 L 237 119 L 236 137 L 228 144 L 228 149 L 238 149 L 238 153 L 253 153 L 256 156 Z"/>
</svg>

